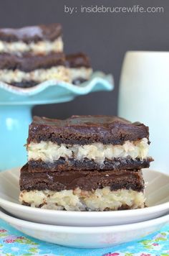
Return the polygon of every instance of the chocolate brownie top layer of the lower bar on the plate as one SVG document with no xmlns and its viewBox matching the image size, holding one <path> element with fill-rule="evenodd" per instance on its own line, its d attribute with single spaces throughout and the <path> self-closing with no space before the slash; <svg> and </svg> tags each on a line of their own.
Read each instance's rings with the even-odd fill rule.
<svg viewBox="0 0 169 256">
<path fill-rule="evenodd" d="M 132 189 L 143 191 L 144 181 L 140 170 L 69 170 L 45 173 L 29 173 L 28 165 L 21 168 L 20 190 L 74 190 L 80 188 L 84 191 L 91 191 L 97 188 L 109 186 L 110 190 Z"/>
</svg>

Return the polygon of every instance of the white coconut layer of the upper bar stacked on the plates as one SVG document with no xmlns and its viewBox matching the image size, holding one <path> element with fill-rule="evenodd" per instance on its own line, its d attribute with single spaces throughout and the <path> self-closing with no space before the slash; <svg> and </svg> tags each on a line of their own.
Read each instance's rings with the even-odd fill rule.
<svg viewBox="0 0 169 256">
<path fill-rule="evenodd" d="M 54 162 L 64 157 L 66 160 L 75 158 L 83 160 L 84 158 L 95 160 L 102 164 L 105 159 L 113 160 L 115 157 L 140 158 L 148 157 L 148 140 L 143 138 L 135 142 L 126 141 L 123 145 L 104 145 L 102 143 L 93 143 L 92 145 L 57 145 L 53 142 L 31 142 L 27 145 L 28 160 L 42 160 L 44 162 Z"/>
</svg>

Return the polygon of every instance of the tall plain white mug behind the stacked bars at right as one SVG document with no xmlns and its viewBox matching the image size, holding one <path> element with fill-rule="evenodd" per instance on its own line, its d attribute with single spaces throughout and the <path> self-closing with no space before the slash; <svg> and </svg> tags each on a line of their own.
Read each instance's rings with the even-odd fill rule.
<svg viewBox="0 0 169 256">
<path fill-rule="evenodd" d="M 118 115 L 150 128 L 151 168 L 169 174 L 169 52 L 125 54 Z"/>
</svg>

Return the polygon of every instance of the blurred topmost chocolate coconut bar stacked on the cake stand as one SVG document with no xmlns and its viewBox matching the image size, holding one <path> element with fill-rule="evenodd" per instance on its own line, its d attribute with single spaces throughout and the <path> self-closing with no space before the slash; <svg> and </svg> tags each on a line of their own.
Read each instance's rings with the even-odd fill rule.
<svg viewBox="0 0 169 256">
<path fill-rule="evenodd" d="M 34 55 L 46 55 L 62 51 L 61 24 L 0 29 L 0 53 L 21 55 L 32 52 Z"/>
</svg>

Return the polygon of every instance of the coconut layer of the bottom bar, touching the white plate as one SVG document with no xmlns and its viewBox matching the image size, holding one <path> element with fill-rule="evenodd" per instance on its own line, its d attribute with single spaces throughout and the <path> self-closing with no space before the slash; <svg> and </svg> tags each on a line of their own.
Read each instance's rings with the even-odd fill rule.
<svg viewBox="0 0 169 256">
<path fill-rule="evenodd" d="M 95 191 L 21 191 L 19 201 L 42 209 L 67 211 L 104 211 L 117 210 L 121 207 L 129 209 L 143 208 L 145 196 L 143 192 L 120 189 L 111 191 L 110 187 L 97 188 Z"/>
</svg>

